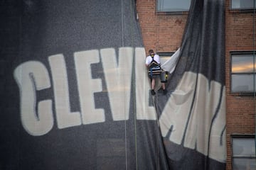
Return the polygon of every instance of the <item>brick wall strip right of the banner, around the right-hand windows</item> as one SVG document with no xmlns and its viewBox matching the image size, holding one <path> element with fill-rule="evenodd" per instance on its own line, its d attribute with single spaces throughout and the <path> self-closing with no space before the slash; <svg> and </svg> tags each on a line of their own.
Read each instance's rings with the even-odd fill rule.
<svg viewBox="0 0 256 170">
<path fill-rule="evenodd" d="M 227 118 L 227 166 L 231 165 L 231 137 L 233 134 L 255 133 L 255 111 L 253 96 L 230 94 L 230 52 L 253 50 L 253 13 L 230 11 L 226 1 L 225 11 L 225 76 Z"/>
</svg>

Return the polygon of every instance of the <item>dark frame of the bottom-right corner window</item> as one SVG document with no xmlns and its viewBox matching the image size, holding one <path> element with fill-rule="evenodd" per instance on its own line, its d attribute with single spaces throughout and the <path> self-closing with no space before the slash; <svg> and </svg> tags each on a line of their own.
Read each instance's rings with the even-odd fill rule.
<svg viewBox="0 0 256 170">
<path fill-rule="evenodd" d="M 231 169 L 233 169 L 233 166 L 234 166 L 234 158 L 244 158 L 244 159 L 255 159 L 256 160 L 256 155 L 254 155 L 254 157 L 252 157 L 252 156 L 245 156 L 245 155 L 241 155 L 241 156 L 237 156 L 237 155 L 235 155 L 234 156 L 234 153 L 233 153 L 233 140 L 235 139 L 235 138 L 240 138 L 240 139 L 248 139 L 248 138 L 250 138 L 250 139 L 254 139 L 255 140 L 255 135 L 252 135 L 252 134 L 242 134 L 242 135 L 240 135 L 240 134 L 232 134 L 232 135 L 230 135 L 230 137 L 231 137 L 231 142 L 230 142 L 230 145 L 231 145 Z M 255 147 L 256 148 L 256 147 Z M 255 154 L 256 154 L 256 151 L 255 151 Z"/>
</svg>

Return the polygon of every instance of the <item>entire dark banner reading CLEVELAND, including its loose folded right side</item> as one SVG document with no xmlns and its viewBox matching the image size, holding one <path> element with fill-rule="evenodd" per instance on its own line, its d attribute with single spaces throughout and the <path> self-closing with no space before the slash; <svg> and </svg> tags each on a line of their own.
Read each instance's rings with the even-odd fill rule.
<svg viewBox="0 0 256 170">
<path fill-rule="evenodd" d="M 223 1 L 193 1 L 154 97 L 135 1 L 1 4 L 0 169 L 225 169 Z"/>
</svg>

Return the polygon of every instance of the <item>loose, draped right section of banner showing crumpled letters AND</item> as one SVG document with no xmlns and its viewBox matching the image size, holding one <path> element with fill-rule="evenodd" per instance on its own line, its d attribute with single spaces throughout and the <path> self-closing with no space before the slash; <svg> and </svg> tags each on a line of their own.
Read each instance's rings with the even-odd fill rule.
<svg viewBox="0 0 256 170">
<path fill-rule="evenodd" d="M 157 105 L 169 168 L 225 169 L 225 1 L 191 1 L 174 63 Z"/>
</svg>

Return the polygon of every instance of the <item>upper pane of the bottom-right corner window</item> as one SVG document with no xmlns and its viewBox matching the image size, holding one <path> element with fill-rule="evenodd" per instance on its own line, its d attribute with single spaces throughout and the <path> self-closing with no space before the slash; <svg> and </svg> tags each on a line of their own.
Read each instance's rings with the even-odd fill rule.
<svg viewBox="0 0 256 170">
<path fill-rule="evenodd" d="M 233 156 L 255 157 L 254 138 L 233 138 Z"/>
</svg>

